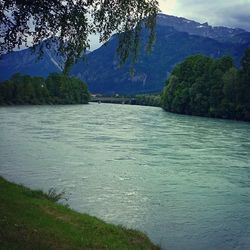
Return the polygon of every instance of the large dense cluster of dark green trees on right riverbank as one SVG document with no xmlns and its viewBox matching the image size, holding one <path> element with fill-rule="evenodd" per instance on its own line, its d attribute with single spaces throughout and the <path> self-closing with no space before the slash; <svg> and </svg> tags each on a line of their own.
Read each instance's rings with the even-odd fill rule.
<svg viewBox="0 0 250 250">
<path fill-rule="evenodd" d="M 250 121 L 250 48 L 240 69 L 228 56 L 187 58 L 168 78 L 162 106 L 180 114 Z"/>
</svg>

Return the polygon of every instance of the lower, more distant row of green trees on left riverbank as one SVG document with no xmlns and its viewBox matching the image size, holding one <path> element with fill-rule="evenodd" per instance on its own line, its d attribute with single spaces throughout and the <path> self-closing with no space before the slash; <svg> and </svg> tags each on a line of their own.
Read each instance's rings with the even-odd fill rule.
<svg viewBox="0 0 250 250">
<path fill-rule="evenodd" d="M 86 104 L 86 84 L 75 77 L 50 74 L 47 79 L 15 74 L 0 84 L 0 104 Z"/>
</svg>

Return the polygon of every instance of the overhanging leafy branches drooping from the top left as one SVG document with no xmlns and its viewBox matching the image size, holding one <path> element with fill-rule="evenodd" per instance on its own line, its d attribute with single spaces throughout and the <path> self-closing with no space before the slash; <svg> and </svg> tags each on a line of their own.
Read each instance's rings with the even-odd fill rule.
<svg viewBox="0 0 250 250">
<path fill-rule="evenodd" d="M 40 52 L 55 43 L 67 58 L 67 71 L 89 47 L 90 34 L 99 33 L 105 42 L 116 32 L 122 63 L 136 56 L 142 25 L 150 30 L 152 46 L 158 11 L 157 0 L 0 0 L 0 54 L 28 39 Z"/>
</svg>

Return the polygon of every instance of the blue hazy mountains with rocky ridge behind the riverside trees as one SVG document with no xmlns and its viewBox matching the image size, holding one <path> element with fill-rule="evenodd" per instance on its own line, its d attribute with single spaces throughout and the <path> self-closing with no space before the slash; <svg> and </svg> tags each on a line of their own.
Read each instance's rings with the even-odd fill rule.
<svg viewBox="0 0 250 250">
<path fill-rule="evenodd" d="M 129 64 L 118 67 L 116 35 L 74 65 L 71 74 L 85 81 L 92 93 L 156 92 L 161 91 L 173 67 L 187 56 L 204 54 L 218 58 L 230 55 L 239 65 L 245 48 L 250 46 L 250 32 L 245 30 L 212 27 L 163 14 L 157 17 L 156 43 L 149 55 L 144 50 L 146 34 L 143 30 L 141 54 L 133 76 L 129 73 Z M 30 49 L 12 52 L 0 61 L 0 72 L 3 72 L 0 79 L 7 79 L 15 72 L 46 76 L 61 71 L 63 62 L 53 50 L 46 51 L 38 62 Z"/>
</svg>

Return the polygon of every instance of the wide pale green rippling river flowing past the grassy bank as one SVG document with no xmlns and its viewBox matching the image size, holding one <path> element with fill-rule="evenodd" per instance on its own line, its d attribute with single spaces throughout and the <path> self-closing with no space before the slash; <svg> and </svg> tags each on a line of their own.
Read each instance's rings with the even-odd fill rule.
<svg viewBox="0 0 250 250">
<path fill-rule="evenodd" d="M 163 249 L 250 249 L 250 123 L 160 108 L 0 108 L 0 175 Z"/>
</svg>

